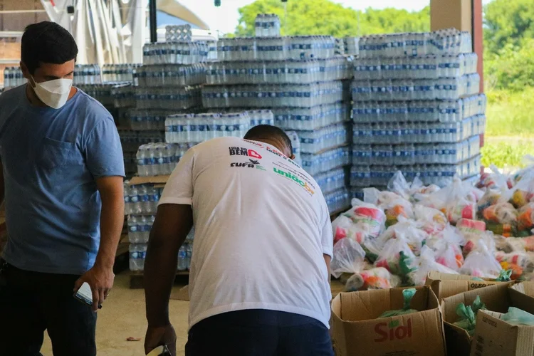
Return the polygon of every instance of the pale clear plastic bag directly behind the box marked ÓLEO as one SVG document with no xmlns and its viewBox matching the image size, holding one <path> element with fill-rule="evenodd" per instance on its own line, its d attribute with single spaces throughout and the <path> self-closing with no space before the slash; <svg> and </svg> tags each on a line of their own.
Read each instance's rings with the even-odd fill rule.
<svg viewBox="0 0 534 356">
<path fill-rule="evenodd" d="M 476 250 L 466 257 L 460 273 L 473 277 L 497 278 L 503 268 L 493 256 L 493 252 L 484 241 L 478 241 Z"/>
</svg>

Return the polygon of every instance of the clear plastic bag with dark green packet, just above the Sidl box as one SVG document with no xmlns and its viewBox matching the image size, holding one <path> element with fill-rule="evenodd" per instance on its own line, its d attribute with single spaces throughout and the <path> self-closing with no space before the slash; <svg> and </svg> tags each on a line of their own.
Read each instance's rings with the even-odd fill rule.
<svg viewBox="0 0 534 356">
<path fill-rule="evenodd" d="M 384 267 L 387 271 L 399 276 L 407 276 L 413 271 L 410 265 L 414 258 L 415 255 L 404 234 L 399 234 L 397 238 L 387 241 L 379 252 L 375 266 Z"/>
</svg>

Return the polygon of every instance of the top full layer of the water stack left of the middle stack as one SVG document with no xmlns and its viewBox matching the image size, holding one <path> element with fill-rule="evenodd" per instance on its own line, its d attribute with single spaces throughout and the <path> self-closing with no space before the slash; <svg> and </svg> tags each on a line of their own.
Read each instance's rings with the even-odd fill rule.
<svg viewBox="0 0 534 356">
<path fill-rule="evenodd" d="M 206 42 L 145 43 L 143 64 L 194 64 L 208 61 Z"/>
</svg>

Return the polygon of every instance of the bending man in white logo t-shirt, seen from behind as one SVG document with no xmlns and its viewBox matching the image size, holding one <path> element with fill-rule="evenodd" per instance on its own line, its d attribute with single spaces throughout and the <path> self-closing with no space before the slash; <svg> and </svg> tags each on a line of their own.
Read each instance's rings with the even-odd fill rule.
<svg viewBox="0 0 534 356">
<path fill-rule="evenodd" d="M 172 172 L 145 262 L 146 352 L 176 352 L 169 294 L 193 223 L 186 356 L 333 355 L 332 225 L 285 132 L 259 125 L 209 140 Z"/>
</svg>

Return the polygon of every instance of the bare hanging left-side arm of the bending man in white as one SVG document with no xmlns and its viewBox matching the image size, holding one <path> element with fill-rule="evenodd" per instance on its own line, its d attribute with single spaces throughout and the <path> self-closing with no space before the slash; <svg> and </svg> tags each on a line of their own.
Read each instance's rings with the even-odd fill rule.
<svg viewBox="0 0 534 356">
<path fill-rule="evenodd" d="M 158 207 L 145 259 L 147 353 L 159 345 L 168 345 L 171 352 L 176 352 L 176 335 L 169 321 L 169 298 L 177 271 L 178 251 L 192 226 L 190 205 L 162 204 Z"/>
</svg>

